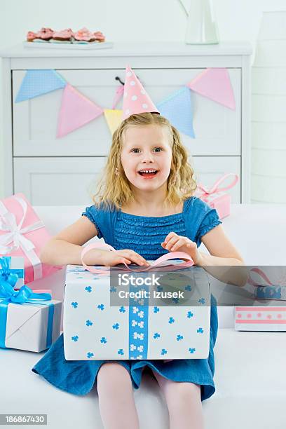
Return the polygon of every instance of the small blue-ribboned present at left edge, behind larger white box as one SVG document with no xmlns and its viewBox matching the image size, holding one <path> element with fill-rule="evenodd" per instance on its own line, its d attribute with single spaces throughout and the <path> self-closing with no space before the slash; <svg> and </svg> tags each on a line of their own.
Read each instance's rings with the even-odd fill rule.
<svg viewBox="0 0 286 429">
<path fill-rule="evenodd" d="M 0 281 L 4 280 L 20 289 L 24 285 L 24 258 L 0 257 Z"/>
</svg>

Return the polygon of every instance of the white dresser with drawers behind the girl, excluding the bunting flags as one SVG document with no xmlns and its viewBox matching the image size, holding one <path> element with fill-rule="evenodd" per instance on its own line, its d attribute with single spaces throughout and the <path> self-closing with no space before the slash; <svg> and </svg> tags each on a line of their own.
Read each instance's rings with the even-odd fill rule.
<svg viewBox="0 0 286 429">
<path fill-rule="evenodd" d="M 55 69 L 83 95 L 111 109 L 129 64 L 155 104 L 207 67 L 226 67 L 236 111 L 191 92 L 196 138 L 181 133 L 198 181 L 211 186 L 226 172 L 239 175 L 233 203 L 250 200 L 250 43 L 115 43 L 104 50 L 53 50 L 21 45 L 0 53 L 4 79 L 4 192 L 23 192 L 33 205 L 90 203 L 90 192 L 111 145 L 104 115 L 56 137 L 62 90 L 15 103 L 27 69 Z M 121 109 L 122 100 L 117 109 Z"/>
</svg>

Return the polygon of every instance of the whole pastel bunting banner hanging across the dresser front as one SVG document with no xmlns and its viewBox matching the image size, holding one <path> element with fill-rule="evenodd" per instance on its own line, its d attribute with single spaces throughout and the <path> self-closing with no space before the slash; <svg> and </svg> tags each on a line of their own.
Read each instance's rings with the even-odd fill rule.
<svg viewBox="0 0 286 429">
<path fill-rule="evenodd" d="M 27 70 L 15 102 L 23 102 L 59 89 L 63 89 L 63 91 L 57 123 L 57 137 L 64 137 L 102 114 L 104 114 L 112 135 L 123 120 L 123 110 L 115 109 L 123 96 L 123 85 L 116 88 L 112 108 L 104 109 L 76 90 L 53 69 Z M 158 111 L 168 118 L 179 132 L 183 132 L 191 138 L 196 138 L 193 130 L 192 91 L 222 104 L 224 107 L 236 109 L 228 69 L 205 69 L 186 83 L 186 86 L 156 104 Z"/>
</svg>

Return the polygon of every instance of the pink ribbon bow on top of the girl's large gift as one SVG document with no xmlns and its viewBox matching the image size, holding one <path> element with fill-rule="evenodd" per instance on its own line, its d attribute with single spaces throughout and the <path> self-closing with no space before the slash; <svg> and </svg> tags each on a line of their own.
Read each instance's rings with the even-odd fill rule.
<svg viewBox="0 0 286 429">
<path fill-rule="evenodd" d="M 114 247 L 112 247 L 111 245 L 109 245 L 107 243 L 93 243 L 93 244 L 87 245 L 86 247 L 83 247 L 83 250 L 81 252 L 81 262 L 83 264 L 83 267 L 86 270 L 90 271 L 90 273 L 93 273 L 93 274 L 96 274 L 96 273 L 106 274 L 107 270 L 100 270 L 100 268 L 92 268 L 91 266 L 88 266 L 88 265 L 86 265 L 83 262 L 83 257 L 84 257 L 84 255 L 87 252 L 89 252 L 92 249 L 98 249 L 98 248 L 102 248 L 104 250 L 111 250 L 113 252 L 117 252 L 117 250 L 115 250 Z M 120 269 L 120 270 L 123 270 L 123 271 L 132 271 L 132 272 L 139 273 L 141 271 L 149 271 L 152 268 L 158 267 L 161 264 L 161 262 L 168 261 L 170 259 L 175 259 L 175 258 L 186 259 L 188 262 L 182 262 L 180 264 L 176 264 L 175 266 L 172 266 L 172 269 L 187 268 L 189 266 L 193 266 L 194 265 L 193 259 L 191 259 L 190 255 L 187 254 L 186 252 L 170 252 L 170 253 L 167 253 L 167 254 L 163 254 L 163 256 L 161 256 L 158 259 L 156 259 L 156 261 L 153 261 L 150 264 L 150 266 L 147 266 L 147 267 L 145 266 L 144 268 L 135 268 L 135 269 L 132 269 L 125 262 L 123 262 L 123 264 L 125 265 L 126 268 L 116 267 L 116 269 L 118 269 L 118 270 Z M 162 269 L 162 268 L 160 268 L 160 269 Z M 170 270 L 170 267 L 169 268 L 165 267 L 165 269 Z"/>
</svg>

